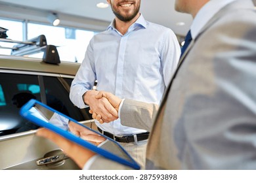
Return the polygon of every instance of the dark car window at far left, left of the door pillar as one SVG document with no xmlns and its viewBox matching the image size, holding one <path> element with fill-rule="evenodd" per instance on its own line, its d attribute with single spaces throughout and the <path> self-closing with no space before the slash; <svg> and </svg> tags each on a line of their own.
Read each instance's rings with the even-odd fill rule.
<svg viewBox="0 0 256 183">
<path fill-rule="evenodd" d="M 40 94 L 33 93 L 30 86 L 39 86 L 37 76 L 0 73 L 0 96 L 4 96 L 5 105 L 0 105 L 0 135 L 8 135 L 37 126 L 22 118 L 20 107 L 30 99 L 40 101 Z"/>
</svg>

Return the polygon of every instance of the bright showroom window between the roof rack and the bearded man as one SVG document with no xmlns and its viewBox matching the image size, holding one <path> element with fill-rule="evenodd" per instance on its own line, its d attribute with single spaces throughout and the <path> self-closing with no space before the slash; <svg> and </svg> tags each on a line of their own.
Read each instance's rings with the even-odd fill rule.
<svg viewBox="0 0 256 183">
<path fill-rule="evenodd" d="M 95 32 L 29 23 L 28 39 L 38 35 L 45 35 L 47 44 L 58 46 L 60 60 L 81 63 L 89 41 Z M 38 57 L 42 57 L 42 55 L 38 55 Z"/>
</svg>

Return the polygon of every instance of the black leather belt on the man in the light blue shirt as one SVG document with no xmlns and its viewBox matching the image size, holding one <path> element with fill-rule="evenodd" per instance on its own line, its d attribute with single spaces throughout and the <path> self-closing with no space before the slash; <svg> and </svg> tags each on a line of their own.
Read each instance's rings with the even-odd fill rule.
<svg viewBox="0 0 256 183">
<path fill-rule="evenodd" d="M 113 135 L 112 133 L 109 133 L 107 131 L 102 131 L 102 129 L 100 129 L 99 127 L 98 127 L 98 131 L 100 131 L 100 133 L 102 133 L 103 135 L 110 137 L 110 139 L 114 139 L 117 142 L 123 142 L 123 143 L 136 142 L 136 138 L 138 142 L 144 141 L 148 139 L 148 136 L 149 136 L 148 131 L 145 133 L 139 133 L 136 135 L 127 135 L 127 136 Z"/>
</svg>

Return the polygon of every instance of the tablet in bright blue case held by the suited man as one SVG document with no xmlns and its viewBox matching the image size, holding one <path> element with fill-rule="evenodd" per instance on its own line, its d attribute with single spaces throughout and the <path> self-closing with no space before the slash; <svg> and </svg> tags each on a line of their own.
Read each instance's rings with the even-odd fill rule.
<svg viewBox="0 0 256 183">
<path fill-rule="evenodd" d="M 34 124 L 50 129 L 62 137 L 65 137 L 70 141 L 92 150 L 100 156 L 112 159 L 113 161 L 117 161 L 118 163 L 127 165 L 133 169 L 140 169 L 138 163 L 131 158 L 123 147 L 118 144 L 118 142 L 106 137 L 105 135 L 102 135 L 98 131 L 80 124 L 69 116 L 62 114 L 61 112 L 58 112 L 57 110 L 54 110 L 53 108 L 35 99 L 31 99 L 28 101 L 28 103 L 23 105 L 23 107 L 20 109 L 20 115 L 27 120 L 30 120 Z M 84 130 L 96 133 L 97 135 L 104 137 L 106 141 L 102 142 L 98 146 L 92 142 L 85 141 L 82 137 L 75 135 L 74 131 L 72 132 L 72 129 L 70 129 L 70 124 L 79 127 L 79 131 Z"/>
</svg>

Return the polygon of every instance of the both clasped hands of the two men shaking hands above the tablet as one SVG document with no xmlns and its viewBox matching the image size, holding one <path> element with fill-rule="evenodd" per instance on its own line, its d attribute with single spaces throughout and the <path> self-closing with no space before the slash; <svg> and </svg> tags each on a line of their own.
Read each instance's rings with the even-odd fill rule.
<svg viewBox="0 0 256 183">
<path fill-rule="evenodd" d="M 109 123 L 118 118 L 119 105 L 122 101 L 109 92 L 89 90 L 83 95 L 83 101 L 90 107 L 90 114 L 100 124 Z"/>
</svg>

